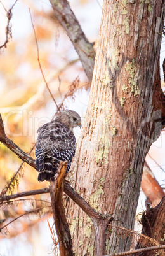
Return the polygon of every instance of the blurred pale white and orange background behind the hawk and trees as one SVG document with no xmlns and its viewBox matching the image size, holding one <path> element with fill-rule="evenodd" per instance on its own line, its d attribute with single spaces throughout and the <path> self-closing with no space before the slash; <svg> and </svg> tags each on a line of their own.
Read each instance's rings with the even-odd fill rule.
<svg viewBox="0 0 165 256">
<path fill-rule="evenodd" d="M 6 40 L 5 32 L 8 22 L 6 11 L 14 3 L 13 0 L 0 2 L 0 46 Z M 70 0 L 70 6 L 86 37 L 96 45 L 102 15 L 102 0 Z M 49 1 L 18 0 L 12 10 L 12 38 L 7 48 L 0 49 L 0 113 L 6 135 L 27 153 L 37 139 L 37 129 L 49 122 L 56 112 L 56 105 L 39 69 L 29 8 L 39 46 L 39 60 L 56 102 L 60 103 L 65 98 L 70 85 L 75 82 L 74 97 L 67 97 L 63 104 L 65 108 L 77 111 L 83 120 L 89 98 L 88 78 L 70 39 L 55 19 Z M 163 89 L 164 51 L 165 43 L 162 38 Z M 74 132 L 78 139 L 81 130 L 77 128 Z M 150 148 L 150 155 L 147 156 L 147 163 L 162 187 L 165 187 L 164 152 L 164 131 L 162 131 L 159 139 Z M 34 150 L 31 156 L 34 157 Z M 22 160 L 18 159 L 6 146 L 0 145 L 0 191 L 6 188 L 7 181 L 18 171 L 21 163 Z M 23 164 L 17 176 L 17 180 L 11 184 L 11 187 L 6 188 L 6 194 L 45 188 L 49 185 L 47 181 L 39 183 L 37 172 L 27 164 Z M 140 192 L 137 215 L 145 210 L 145 199 L 145 194 Z M 49 194 L 43 194 L 31 196 L 28 200 L 15 201 L 10 206 L 4 204 L 1 207 L 0 220 L 6 221 L 0 223 L 0 227 L 28 211 L 41 209 L 37 214 L 32 213 L 18 218 L 0 233 L 0 255 L 53 255 L 54 245 L 51 233 L 53 218 L 49 201 Z M 140 228 L 136 222 L 135 229 L 140 230 Z"/>
</svg>

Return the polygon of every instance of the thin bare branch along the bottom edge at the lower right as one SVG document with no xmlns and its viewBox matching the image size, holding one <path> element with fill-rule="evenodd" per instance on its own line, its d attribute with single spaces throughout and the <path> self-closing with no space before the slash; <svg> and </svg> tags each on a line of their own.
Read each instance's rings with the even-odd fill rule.
<svg viewBox="0 0 165 256">
<path fill-rule="evenodd" d="M 135 254 L 135 253 L 149 252 L 149 251 L 162 250 L 162 249 L 165 249 L 165 245 L 159 245 L 159 246 L 152 246 L 152 247 L 147 247 L 147 248 L 141 248 L 141 249 L 132 250 L 132 251 L 127 251 L 127 252 L 119 252 L 119 253 L 107 254 L 106 256 L 133 255 L 133 254 Z"/>
</svg>

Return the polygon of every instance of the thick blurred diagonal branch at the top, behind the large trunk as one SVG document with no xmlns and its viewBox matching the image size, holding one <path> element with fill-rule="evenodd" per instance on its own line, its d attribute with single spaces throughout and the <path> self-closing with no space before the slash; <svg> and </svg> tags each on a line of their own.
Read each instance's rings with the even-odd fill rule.
<svg viewBox="0 0 165 256">
<path fill-rule="evenodd" d="M 95 64 L 95 51 L 93 50 L 93 44 L 89 43 L 88 39 L 86 38 L 79 22 L 77 21 L 77 18 L 70 9 L 68 1 L 49 1 L 55 12 L 55 17 L 67 32 L 70 41 L 72 41 L 72 44 L 74 45 L 74 48 L 79 55 L 79 59 L 82 62 L 84 71 L 91 81 Z"/>
</svg>

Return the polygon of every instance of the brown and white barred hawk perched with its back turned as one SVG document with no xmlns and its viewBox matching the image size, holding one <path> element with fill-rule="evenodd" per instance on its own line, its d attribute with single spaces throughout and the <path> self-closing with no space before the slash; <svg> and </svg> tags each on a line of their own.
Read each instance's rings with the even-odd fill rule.
<svg viewBox="0 0 165 256">
<path fill-rule="evenodd" d="M 81 128 L 79 114 L 65 110 L 38 129 L 35 154 L 39 181 L 53 180 L 60 161 L 68 161 L 66 172 L 69 171 L 76 150 L 73 128 L 77 126 Z"/>
</svg>

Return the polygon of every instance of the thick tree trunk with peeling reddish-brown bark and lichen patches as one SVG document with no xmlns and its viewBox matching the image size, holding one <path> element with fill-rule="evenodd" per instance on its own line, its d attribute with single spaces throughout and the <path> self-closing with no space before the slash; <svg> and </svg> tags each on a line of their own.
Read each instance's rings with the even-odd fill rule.
<svg viewBox="0 0 165 256">
<path fill-rule="evenodd" d="M 70 174 L 95 210 L 112 213 L 128 229 L 134 226 L 145 155 L 154 138 L 163 3 L 104 1 L 88 110 Z M 71 200 L 67 216 L 74 251 L 95 255 L 91 220 Z M 107 252 L 129 250 L 130 243 L 107 229 Z"/>
</svg>

